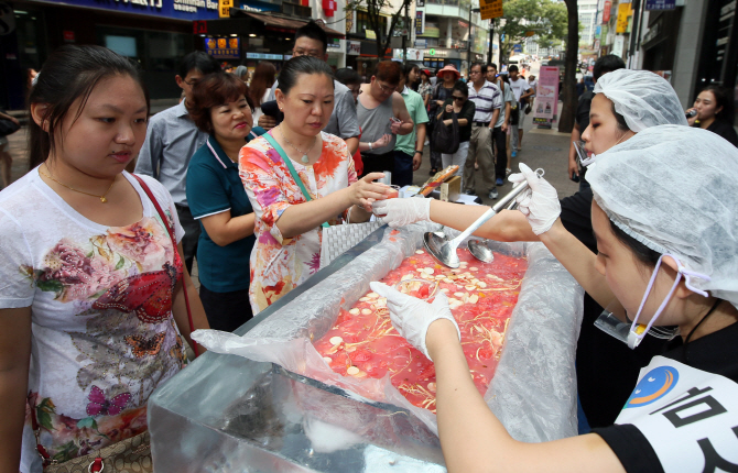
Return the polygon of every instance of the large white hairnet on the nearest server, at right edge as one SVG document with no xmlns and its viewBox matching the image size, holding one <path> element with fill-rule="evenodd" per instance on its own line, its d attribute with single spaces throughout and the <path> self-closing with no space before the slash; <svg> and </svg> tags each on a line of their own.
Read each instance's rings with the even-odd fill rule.
<svg viewBox="0 0 738 473">
<path fill-rule="evenodd" d="M 587 180 L 616 226 L 738 307 L 738 148 L 706 130 L 653 127 L 604 153 Z"/>
</svg>

